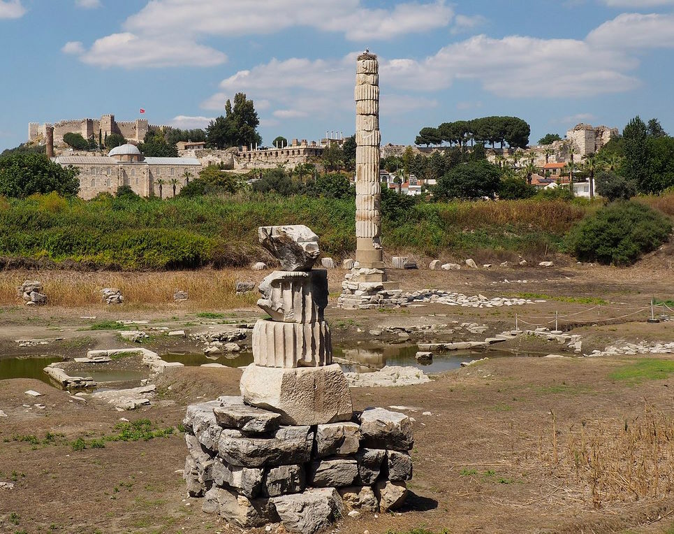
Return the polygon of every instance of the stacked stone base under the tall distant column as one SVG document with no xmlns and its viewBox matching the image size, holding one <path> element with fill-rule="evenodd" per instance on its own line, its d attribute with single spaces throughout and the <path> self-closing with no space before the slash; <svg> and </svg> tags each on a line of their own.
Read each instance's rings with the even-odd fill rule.
<svg viewBox="0 0 674 534">
<path fill-rule="evenodd" d="M 346 310 L 372 310 L 397 308 L 406 305 L 407 301 L 397 282 L 386 280 L 383 270 L 353 268 L 344 276 L 337 305 Z"/>
</svg>

